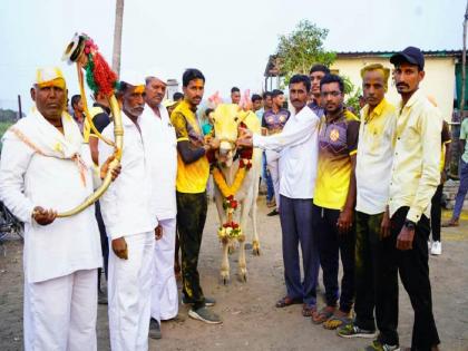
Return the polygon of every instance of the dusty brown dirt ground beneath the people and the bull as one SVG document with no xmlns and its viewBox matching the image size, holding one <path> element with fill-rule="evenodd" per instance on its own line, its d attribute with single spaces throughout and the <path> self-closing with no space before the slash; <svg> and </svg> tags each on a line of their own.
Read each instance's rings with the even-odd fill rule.
<svg viewBox="0 0 468 351">
<path fill-rule="evenodd" d="M 344 340 L 334 332 L 313 325 L 301 315 L 301 306 L 275 309 L 284 295 L 281 232 L 279 217 L 267 217 L 269 208 L 259 201 L 262 255 L 247 254 L 248 282 L 235 276 L 236 255 L 231 256 L 232 281 L 220 285 L 220 244 L 216 238 L 216 213 L 209 206 L 199 271 L 205 294 L 217 300 L 214 311 L 224 319 L 222 325 L 206 325 L 187 318 L 181 306 L 177 321 L 164 322 L 162 340 L 150 340 L 150 350 L 355 350 L 365 340 Z M 446 216 L 448 214 L 445 214 Z M 441 349 L 468 350 L 468 222 L 442 233 L 443 254 L 430 259 L 436 321 Z M 0 247 L 0 350 L 22 349 L 22 272 L 19 241 Z M 323 304 L 323 287 L 320 305 Z M 409 345 L 412 311 L 403 290 L 400 293 L 401 343 Z M 106 306 L 99 306 L 98 349 L 108 350 Z M 86 351 L 86 350 L 84 350 Z"/>
</svg>

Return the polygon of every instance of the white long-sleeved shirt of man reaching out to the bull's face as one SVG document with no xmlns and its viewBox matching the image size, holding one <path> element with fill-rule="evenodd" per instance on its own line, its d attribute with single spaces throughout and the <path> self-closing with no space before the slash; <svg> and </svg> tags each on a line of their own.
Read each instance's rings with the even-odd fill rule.
<svg viewBox="0 0 468 351">
<path fill-rule="evenodd" d="M 291 115 L 283 130 L 253 136 L 254 147 L 280 152 L 280 194 L 290 198 L 313 198 L 319 154 L 320 118 L 304 106 Z"/>
</svg>

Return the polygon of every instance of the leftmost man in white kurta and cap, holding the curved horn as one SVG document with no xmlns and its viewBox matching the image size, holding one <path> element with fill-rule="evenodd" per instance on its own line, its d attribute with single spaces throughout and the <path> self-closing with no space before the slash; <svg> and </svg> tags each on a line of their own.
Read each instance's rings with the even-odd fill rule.
<svg viewBox="0 0 468 351">
<path fill-rule="evenodd" d="M 0 162 L 0 199 L 25 223 L 25 349 L 96 350 L 94 207 L 56 217 L 92 193 L 89 148 L 64 113 L 59 69 L 39 69 L 31 97 L 36 107 L 4 134 Z"/>
</svg>

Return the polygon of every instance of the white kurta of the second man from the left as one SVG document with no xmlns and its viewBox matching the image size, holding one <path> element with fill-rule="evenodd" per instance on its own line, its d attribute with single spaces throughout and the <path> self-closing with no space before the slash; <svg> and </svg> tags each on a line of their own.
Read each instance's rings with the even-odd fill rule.
<svg viewBox="0 0 468 351">
<path fill-rule="evenodd" d="M 142 133 L 124 111 L 121 111 L 121 121 L 124 126 L 121 172 L 100 201 L 106 232 L 111 240 L 150 232 L 158 223 L 152 204 L 155 197 L 148 159 L 152 136 L 142 125 L 142 116 L 138 118 Z M 103 135 L 114 140 L 114 123 L 104 129 Z M 114 153 L 114 148 L 104 142 L 99 142 L 98 145 L 99 162 L 104 163 Z"/>
</svg>

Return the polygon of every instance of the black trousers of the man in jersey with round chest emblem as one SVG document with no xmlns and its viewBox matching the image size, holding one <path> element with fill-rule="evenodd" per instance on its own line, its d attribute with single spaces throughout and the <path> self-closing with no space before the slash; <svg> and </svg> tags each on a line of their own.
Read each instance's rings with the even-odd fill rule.
<svg viewBox="0 0 468 351">
<path fill-rule="evenodd" d="M 339 234 L 337 226 L 339 216 L 339 209 L 313 205 L 313 233 L 323 271 L 326 305 L 335 306 L 340 296 L 340 310 L 348 313 L 351 311 L 354 298 L 355 232 L 353 226 L 349 233 Z M 338 285 L 340 254 L 343 266 L 341 294 Z"/>
</svg>

